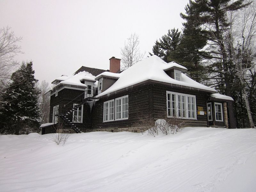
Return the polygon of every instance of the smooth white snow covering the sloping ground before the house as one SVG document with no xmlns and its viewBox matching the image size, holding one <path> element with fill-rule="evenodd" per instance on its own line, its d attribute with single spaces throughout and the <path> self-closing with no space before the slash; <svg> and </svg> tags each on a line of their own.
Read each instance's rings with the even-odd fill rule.
<svg viewBox="0 0 256 192">
<path fill-rule="evenodd" d="M 256 191 L 256 130 L 0 135 L 0 191 Z"/>
</svg>

